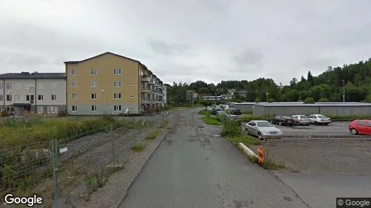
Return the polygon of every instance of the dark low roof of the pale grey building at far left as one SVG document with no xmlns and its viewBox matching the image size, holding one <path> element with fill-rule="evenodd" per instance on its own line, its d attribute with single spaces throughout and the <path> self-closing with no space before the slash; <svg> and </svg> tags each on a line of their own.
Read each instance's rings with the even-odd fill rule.
<svg viewBox="0 0 371 208">
<path fill-rule="evenodd" d="M 66 73 L 21 72 L 0 74 L 0 79 L 64 79 L 65 77 Z"/>
</svg>

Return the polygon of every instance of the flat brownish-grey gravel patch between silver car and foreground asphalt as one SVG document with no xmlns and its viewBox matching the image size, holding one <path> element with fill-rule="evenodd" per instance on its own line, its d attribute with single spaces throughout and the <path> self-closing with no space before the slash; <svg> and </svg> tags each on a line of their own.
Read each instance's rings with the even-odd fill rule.
<svg viewBox="0 0 371 208">
<path fill-rule="evenodd" d="M 263 147 L 268 157 L 286 166 L 284 171 L 371 173 L 371 139 L 272 139 Z"/>
</svg>

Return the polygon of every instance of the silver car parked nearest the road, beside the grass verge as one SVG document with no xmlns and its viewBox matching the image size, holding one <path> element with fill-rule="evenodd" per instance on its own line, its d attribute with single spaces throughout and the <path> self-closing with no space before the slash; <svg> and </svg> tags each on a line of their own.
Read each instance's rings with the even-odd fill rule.
<svg viewBox="0 0 371 208">
<path fill-rule="evenodd" d="M 282 130 L 274 127 L 272 123 L 268 121 L 250 121 L 245 124 L 245 131 L 248 135 L 255 135 L 259 139 L 264 138 L 281 138 L 283 135 Z"/>
</svg>

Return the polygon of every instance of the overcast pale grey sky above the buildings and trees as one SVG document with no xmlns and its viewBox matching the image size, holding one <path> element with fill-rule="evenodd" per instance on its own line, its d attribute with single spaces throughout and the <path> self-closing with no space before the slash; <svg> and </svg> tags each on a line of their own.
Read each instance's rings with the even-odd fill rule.
<svg viewBox="0 0 371 208">
<path fill-rule="evenodd" d="M 371 57 L 368 0 L 0 0 L 0 73 L 106 51 L 165 83 L 318 75 Z"/>
</svg>

